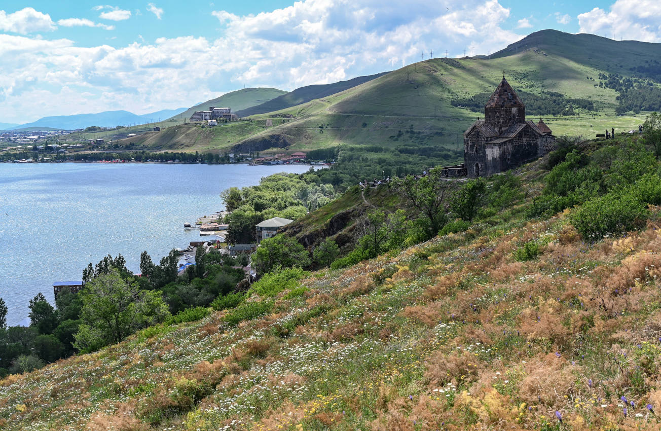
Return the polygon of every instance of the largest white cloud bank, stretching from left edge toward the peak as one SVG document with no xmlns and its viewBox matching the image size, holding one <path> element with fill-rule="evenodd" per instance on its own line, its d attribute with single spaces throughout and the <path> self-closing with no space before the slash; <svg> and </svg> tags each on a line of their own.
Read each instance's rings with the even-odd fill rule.
<svg viewBox="0 0 661 431">
<path fill-rule="evenodd" d="M 244 84 L 291 90 L 397 69 L 419 61 L 422 50 L 435 57 L 446 49 L 450 57 L 463 56 L 464 48 L 486 54 L 522 38 L 501 28 L 509 16 L 497 0 L 410 0 L 405 8 L 381 0 L 305 0 L 257 15 L 215 11 L 221 29 L 214 39 L 83 48 L 0 34 L 0 120 L 26 122 L 34 112 L 149 112 Z"/>
</svg>

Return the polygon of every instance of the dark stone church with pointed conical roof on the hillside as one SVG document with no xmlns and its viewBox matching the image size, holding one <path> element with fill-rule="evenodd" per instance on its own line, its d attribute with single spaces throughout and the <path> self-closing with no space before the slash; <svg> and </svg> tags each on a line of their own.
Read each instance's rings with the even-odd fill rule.
<svg viewBox="0 0 661 431">
<path fill-rule="evenodd" d="M 516 168 L 553 150 L 555 137 L 541 120 L 525 120 L 524 102 L 502 77 L 485 106 L 485 119 L 463 133 L 468 176 L 488 176 Z M 462 169 L 463 171 L 463 169 Z"/>
</svg>

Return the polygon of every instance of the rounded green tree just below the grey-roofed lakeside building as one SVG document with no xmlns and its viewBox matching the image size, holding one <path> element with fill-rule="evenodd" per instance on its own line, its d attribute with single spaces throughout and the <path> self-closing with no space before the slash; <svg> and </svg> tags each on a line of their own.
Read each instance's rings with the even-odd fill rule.
<svg viewBox="0 0 661 431">
<path fill-rule="evenodd" d="M 254 268 L 258 274 L 266 274 L 276 266 L 282 268 L 305 268 L 310 264 L 310 255 L 295 238 L 280 233 L 262 239 L 253 255 Z"/>
</svg>

